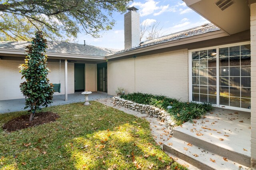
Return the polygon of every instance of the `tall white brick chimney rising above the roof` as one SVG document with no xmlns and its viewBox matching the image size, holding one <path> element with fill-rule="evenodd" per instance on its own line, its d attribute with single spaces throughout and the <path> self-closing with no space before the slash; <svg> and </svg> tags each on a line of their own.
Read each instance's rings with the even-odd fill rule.
<svg viewBox="0 0 256 170">
<path fill-rule="evenodd" d="M 140 45 L 140 14 L 135 7 L 128 8 L 124 14 L 124 49 Z"/>
</svg>

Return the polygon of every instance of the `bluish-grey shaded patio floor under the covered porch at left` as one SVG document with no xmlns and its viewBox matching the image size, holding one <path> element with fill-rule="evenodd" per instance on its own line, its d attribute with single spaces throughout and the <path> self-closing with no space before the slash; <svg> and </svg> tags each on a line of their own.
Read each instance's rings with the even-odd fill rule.
<svg viewBox="0 0 256 170">
<path fill-rule="evenodd" d="M 92 92 L 88 96 L 89 100 L 97 100 L 102 98 L 111 98 L 112 96 L 104 92 Z M 68 101 L 65 101 L 65 95 L 54 95 L 52 106 L 70 104 L 76 102 L 84 102 L 84 95 L 81 92 L 75 92 L 74 94 L 68 94 Z M 0 114 L 8 113 L 13 111 L 22 111 L 25 107 L 24 99 L 14 99 L 14 100 L 0 100 Z"/>
</svg>

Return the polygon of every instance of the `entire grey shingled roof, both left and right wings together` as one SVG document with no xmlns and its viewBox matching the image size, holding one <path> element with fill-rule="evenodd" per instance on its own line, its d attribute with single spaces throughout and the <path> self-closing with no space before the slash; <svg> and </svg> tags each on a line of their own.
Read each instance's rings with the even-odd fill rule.
<svg viewBox="0 0 256 170">
<path fill-rule="evenodd" d="M 133 47 L 126 50 L 117 49 L 109 49 L 104 47 L 95 47 L 92 45 L 82 45 L 76 43 L 67 43 L 61 41 L 48 41 L 47 52 L 48 53 L 62 53 L 62 54 L 72 54 L 72 55 L 87 55 L 87 56 L 110 56 L 119 53 L 124 53 L 126 51 L 132 51 L 135 49 L 140 49 L 143 47 L 148 47 L 151 45 L 156 45 L 160 43 L 170 42 L 178 39 L 184 39 L 188 37 L 192 37 L 195 35 L 201 35 L 204 33 L 209 33 L 213 31 L 220 30 L 218 27 L 213 25 L 212 23 L 208 23 L 199 27 L 194 27 L 191 29 L 187 29 L 185 31 L 180 31 L 177 33 L 173 33 L 170 35 L 165 35 L 163 37 L 159 37 L 156 39 L 152 39 L 149 41 L 144 41 L 140 43 L 140 46 Z M 17 49 L 17 50 L 25 50 L 25 46 L 29 45 L 29 41 L 14 41 L 14 42 L 0 42 L 0 49 Z"/>
</svg>

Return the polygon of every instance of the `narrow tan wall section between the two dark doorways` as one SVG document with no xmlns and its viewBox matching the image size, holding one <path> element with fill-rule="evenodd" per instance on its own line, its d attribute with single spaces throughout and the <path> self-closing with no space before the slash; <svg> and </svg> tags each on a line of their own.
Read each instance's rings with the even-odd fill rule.
<svg viewBox="0 0 256 170">
<path fill-rule="evenodd" d="M 97 91 L 97 64 L 85 64 L 85 90 L 95 92 Z"/>
</svg>

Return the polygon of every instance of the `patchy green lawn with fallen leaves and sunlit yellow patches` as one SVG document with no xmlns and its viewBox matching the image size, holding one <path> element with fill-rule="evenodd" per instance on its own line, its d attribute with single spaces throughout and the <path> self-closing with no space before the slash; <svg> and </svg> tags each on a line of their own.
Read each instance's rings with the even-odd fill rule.
<svg viewBox="0 0 256 170">
<path fill-rule="evenodd" d="M 136 170 L 139 165 L 146 170 L 151 164 L 154 170 L 186 169 L 156 145 L 148 121 L 91 104 L 43 108 L 60 115 L 52 123 L 12 133 L 0 128 L 0 169 Z M 23 114 L 1 114 L 0 125 Z"/>
</svg>

